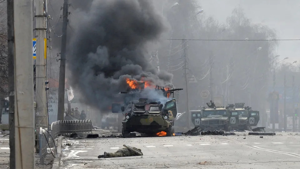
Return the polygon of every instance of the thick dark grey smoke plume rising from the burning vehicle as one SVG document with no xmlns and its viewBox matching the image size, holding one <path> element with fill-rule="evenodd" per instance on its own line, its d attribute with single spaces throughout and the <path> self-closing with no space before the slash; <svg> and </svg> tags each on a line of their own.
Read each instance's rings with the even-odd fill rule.
<svg viewBox="0 0 300 169">
<path fill-rule="evenodd" d="M 77 22 L 68 69 L 72 86 L 86 104 L 109 107 L 127 89 L 126 78 L 173 86 L 172 74 L 149 64 L 148 44 L 157 41 L 165 27 L 148 0 L 93 1 Z"/>
</svg>

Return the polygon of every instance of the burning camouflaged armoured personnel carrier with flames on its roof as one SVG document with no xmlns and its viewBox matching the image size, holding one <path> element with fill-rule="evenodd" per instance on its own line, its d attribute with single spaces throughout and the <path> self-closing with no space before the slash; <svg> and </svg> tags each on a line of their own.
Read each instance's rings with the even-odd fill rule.
<svg viewBox="0 0 300 169">
<path fill-rule="evenodd" d="M 141 98 L 143 90 L 144 88 L 138 91 L 122 92 L 125 94 L 125 100 L 128 101 L 128 104 L 121 106 L 125 117 L 122 121 L 123 137 L 127 137 L 130 132 L 157 136 L 173 135 L 174 120 L 177 115 L 176 102 L 179 90 L 183 89 L 156 86 L 151 92 L 157 92 L 163 97 L 158 99 Z"/>
</svg>

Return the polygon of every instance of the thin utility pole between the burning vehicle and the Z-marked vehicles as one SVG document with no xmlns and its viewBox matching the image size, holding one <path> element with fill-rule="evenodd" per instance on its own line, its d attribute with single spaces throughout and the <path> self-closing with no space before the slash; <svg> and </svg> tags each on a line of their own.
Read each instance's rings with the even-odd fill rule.
<svg viewBox="0 0 300 169">
<path fill-rule="evenodd" d="M 185 78 L 185 87 L 187 89 L 186 91 L 186 100 L 187 100 L 187 105 L 186 105 L 186 114 L 187 114 L 187 126 L 188 128 L 191 126 L 191 117 L 189 114 L 189 104 L 188 104 L 188 81 L 187 81 L 187 41 L 186 40 L 182 40 L 182 48 L 183 48 L 183 57 L 184 57 L 184 78 Z"/>
</svg>

